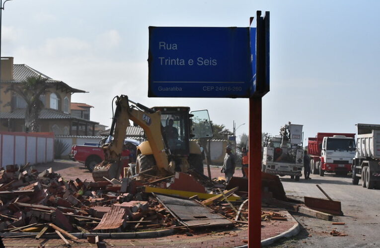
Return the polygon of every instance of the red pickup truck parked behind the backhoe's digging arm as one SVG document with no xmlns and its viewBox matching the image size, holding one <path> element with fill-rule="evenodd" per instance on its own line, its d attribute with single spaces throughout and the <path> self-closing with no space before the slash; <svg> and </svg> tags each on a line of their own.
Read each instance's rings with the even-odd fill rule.
<svg viewBox="0 0 380 248">
<path fill-rule="evenodd" d="M 134 139 L 124 141 L 126 149 L 121 154 L 124 166 L 131 162 L 136 162 L 136 148 L 140 144 Z M 95 165 L 104 160 L 104 152 L 99 145 L 73 145 L 71 148 L 70 158 L 74 161 L 83 163 L 87 169 L 92 172 Z"/>
</svg>

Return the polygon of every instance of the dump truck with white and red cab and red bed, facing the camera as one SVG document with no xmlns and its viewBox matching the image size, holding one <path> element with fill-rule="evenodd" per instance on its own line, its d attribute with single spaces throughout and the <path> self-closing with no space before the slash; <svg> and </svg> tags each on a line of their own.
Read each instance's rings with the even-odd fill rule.
<svg viewBox="0 0 380 248">
<path fill-rule="evenodd" d="M 355 133 L 318 132 L 308 138 L 308 154 L 312 174 L 325 172 L 347 175 L 355 157 Z"/>
</svg>

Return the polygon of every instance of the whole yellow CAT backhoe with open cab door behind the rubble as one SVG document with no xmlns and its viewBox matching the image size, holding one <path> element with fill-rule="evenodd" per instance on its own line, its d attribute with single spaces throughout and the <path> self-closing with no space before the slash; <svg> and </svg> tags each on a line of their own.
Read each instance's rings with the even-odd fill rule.
<svg viewBox="0 0 380 248">
<path fill-rule="evenodd" d="M 104 161 L 95 166 L 94 181 L 102 181 L 103 177 L 119 178 L 120 157 L 130 120 L 144 129 L 148 139 L 137 148 L 132 175 L 146 171 L 150 175 L 167 176 L 189 168 L 203 173 L 201 149 L 190 139 L 213 137 L 207 110 L 189 113 L 189 107 L 148 108 L 126 95 L 117 96 L 115 103 L 109 136 L 102 145 Z"/>
</svg>

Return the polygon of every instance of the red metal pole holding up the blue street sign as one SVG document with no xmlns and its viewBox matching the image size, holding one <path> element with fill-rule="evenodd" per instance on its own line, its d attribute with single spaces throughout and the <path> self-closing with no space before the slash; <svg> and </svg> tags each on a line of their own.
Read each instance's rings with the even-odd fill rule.
<svg viewBox="0 0 380 248">
<path fill-rule="evenodd" d="M 261 247 L 261 97 L 249 98 L 248 247 Z"/>
</svg>

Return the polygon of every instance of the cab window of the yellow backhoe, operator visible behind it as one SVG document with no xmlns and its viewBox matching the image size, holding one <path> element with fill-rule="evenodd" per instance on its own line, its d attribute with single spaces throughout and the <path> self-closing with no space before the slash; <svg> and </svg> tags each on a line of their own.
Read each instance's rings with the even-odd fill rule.
<svg viewBox="0 0 380 248">
<path fill-rule="evenodd" d="M 166 138 L 169 149 L 184 150 L 185 147 L 185 125 L 181 115 L 161 115 L 161 124 L 163 126 L 163 135 Z"/>
</svg>

